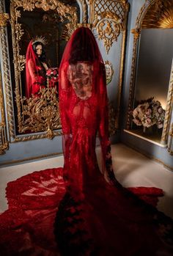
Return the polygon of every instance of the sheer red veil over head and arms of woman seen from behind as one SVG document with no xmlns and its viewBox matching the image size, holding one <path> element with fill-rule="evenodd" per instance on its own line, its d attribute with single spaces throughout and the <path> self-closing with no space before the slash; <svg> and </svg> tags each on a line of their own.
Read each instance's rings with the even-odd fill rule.
<svg viewBox="0 0 173 256">
<path fill-rule="evenodd" d="M 72 70 L 72 74 L 68 74 L 69 65 L 76 64 L 76 62 L 87 62 L 92 65 L 92 94 L 95 95 L 95 104 L 99 106 L 97 108 L 97 116 L 99 118 L 97 118 L 96 126 L 102 147 L 104 168 L 106 164 L 106 154 L 109 156 L 108 147 L 110 145 L 108 140 L 108 98 L 106 91 L 106 71 L 95 37 L 91 30 L 85 27 L 76 29 L 72 37 L 70 37 L 62 56 L 61 65 L 59 67 L 59 109 L 62 120 L 62 131 L 64 134 L 63 149 L 65 153 L 65 164 L 67 164 L 67 159 L 69 157 L 68 154 L 70 153 L 70 134 L 72 131 L 68 111 L 70 108 L 70 100 L 73 98 L 73 81 L 70 82 L 70 77 L 67 78 L 67 76 L 72 77 L 74 75 L 74 79 L 76 79 L 76 81 L 80 81 L 81 84 L 82 82 L 86 83 L 85 77 L 83 78 L 83 81 L 80 80 L 81 73 L 78 72 L 78 70 L 76 70 L 76 72 Z M 78 81 L 76 81 L 74 81 L 74 83 L 78 83 Z M 90 122 L 92 123 L 92 119 Z M 103 172 L 104 170 L 105 168 L 103 169 Z M 111 169 L 111 175 L 113 173 L 114 172 L 112 172 Z"/>
</svg>

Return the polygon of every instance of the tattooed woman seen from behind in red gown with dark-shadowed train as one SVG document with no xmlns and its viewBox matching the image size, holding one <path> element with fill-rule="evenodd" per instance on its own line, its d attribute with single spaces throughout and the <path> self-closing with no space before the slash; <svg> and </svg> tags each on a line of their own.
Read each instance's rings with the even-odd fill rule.
<svg viewBox="0 0 173 256">
<path fill-rule="evenodd" d="M 59 108 L 66 194 L 56 215 L 55 234 L 62 255 L 172 255 L 172 220 L 114 177 L 106 72 L 90 29 L 76 29 L 65 48 L 59 67 Z M 95 153 L 97 134 L 102 173 Z"/>
</svg>

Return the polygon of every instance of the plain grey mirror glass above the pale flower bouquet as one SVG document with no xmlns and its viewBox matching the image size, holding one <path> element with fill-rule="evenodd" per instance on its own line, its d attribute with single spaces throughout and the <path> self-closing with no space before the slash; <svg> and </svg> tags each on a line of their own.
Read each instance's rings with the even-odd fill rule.
<svg viewBox="0 0 173 256">
<path fill-rule="evenodd" d="M 142 29 L 135 101 L 154 97 L 166 109 L 173 56 L 173 29 Z"/>
</svg>

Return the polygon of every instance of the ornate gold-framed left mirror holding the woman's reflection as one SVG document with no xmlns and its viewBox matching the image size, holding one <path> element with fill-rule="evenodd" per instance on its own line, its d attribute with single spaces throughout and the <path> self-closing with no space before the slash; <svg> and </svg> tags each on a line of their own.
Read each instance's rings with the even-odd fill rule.
<svg viewBox="0 0 173 256">
<path fill-rule="evenodd" d="M 53 83 L 51 78 L 53 75 L 53 79 L 58 76 L 57 70 L 65 45 L 70 34 L 77 27 L 79 15 L 76 1 L 71 1 L 70 4 L 64 4 L 58 0 L 54 3 L 37 0 L 11 1 L 9 38 L 12 37 L 10 58 L 15 77 L 15 81 L 12 81 L 12 89 L 15 98 L 15 131 L 17 135 L 46 131 L 46 136 L 52 139 L 56 134 L 59 134 L 58 130 L 61 128 L 61 123 L 58 79 Z M 31 69 L 29 72 L 26 70 L 29 66 L 26 59 L 26 49 L 29 42 L 37 40 L 37 37 L 46 41 L 46 44 L 44 42 L 41 45 L 42 51 L 44 47 L 45 59 L 35 65 L 39 69 L 37 92 L 32 90 L 28 93 L 26 73 L 30 73 Z M 38 50 L 34 49 L 34 51 Z M 33 67 L 33 62 L 30 66 Z M 52 72 L 46 73 L 48 68 Z M 55 70 L 56 74 L 53 74 Z M 36 83 L 33 84 L 36 88 Z"/>
</svg>

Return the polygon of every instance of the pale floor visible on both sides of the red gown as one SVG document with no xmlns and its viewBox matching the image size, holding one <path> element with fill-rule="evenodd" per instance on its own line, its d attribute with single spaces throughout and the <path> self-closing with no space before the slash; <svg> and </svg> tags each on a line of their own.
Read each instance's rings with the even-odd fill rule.
<svg viewBox="0 0 173 256">
<path fill-rule="evenodd" d="M 111 147 L 114 172 L 125 187 L 155 186 L 163 189 L 164 197 L 158 202 L 158 209 L 173 218 L 173 172 L 135 150 L 122 144 Z M 99 158 L 100 150 L 97 150 Z M 0 213 L 7 209 L 5 188 L 9 181 L 28 173 L 63 166 L 63 156 L 2 167 L 0 169 Z"/>
</svg>

